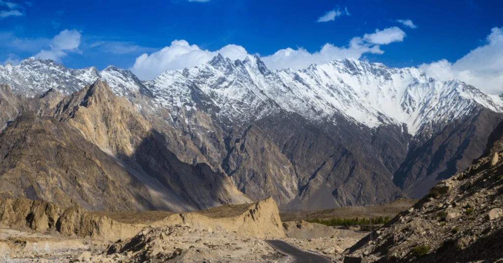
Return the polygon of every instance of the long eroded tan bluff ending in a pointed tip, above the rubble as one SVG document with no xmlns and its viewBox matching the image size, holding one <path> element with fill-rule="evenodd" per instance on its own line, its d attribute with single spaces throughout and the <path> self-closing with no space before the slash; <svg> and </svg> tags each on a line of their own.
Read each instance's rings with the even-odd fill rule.
<svg viewBox="0 0 503 263">
<path fill-rule="evenodd" d="M 151 223 L 123 223 L 90 213 L 80 207 L 63 208 L 50 202 L 29 199 L 0 199 L 0 225 L 28 227 L 35 231 L 57 230 L 65 236 L 115 241 L 131 238 L 145 227 L 187 225 L 208 232 L 239 232 L 257 238 L 285 235 L 278 207 L 272 198 L 200 212 L 172 214 Z"/>
</svg>

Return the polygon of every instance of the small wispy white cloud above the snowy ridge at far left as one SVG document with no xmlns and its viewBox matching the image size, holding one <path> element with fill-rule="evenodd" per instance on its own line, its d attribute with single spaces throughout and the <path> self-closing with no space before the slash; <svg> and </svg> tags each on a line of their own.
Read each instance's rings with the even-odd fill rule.
<svg viewBox="0 0 503 263">
<path fill-rule="evenodd" d="M 49 50 L 41 50 L 35 57 L 61 61 L 61 58 L 66 56 L 68 52 L 79 52 L 79 45 L 80 33 L 75 29 L 65 29 L 54 36 L 49 44 Z"/>
</svg>

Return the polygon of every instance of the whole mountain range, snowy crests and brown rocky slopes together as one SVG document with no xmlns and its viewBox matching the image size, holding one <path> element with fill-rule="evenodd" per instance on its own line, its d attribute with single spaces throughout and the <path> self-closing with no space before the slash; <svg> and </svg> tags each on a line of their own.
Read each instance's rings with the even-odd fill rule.
<svg viewBox="0 0 503 263">
<path fill-rule="evenodd" d="M 0 83 L 0 196 L 90 210 L 418 198 L 503 120 L 500 97 L 462 81 L 355 59 L 295 71 L 218 55 L 142 81 L 28 58 Z"/>
</svg>

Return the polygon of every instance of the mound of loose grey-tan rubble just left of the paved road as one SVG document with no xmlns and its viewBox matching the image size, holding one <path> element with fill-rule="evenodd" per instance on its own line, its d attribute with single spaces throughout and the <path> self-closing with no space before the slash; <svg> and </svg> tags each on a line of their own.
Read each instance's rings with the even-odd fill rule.
<svg viewBox="0 0 503 263">
<path fill-rule="evenodd" d="M 263 239 L 237 232 L 193 229 L 187 225 L 146 227 L 119 240 L 92 262 L 277 262 L 284 257 Z"/>
</svg>

